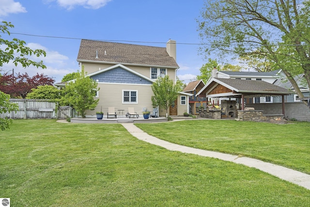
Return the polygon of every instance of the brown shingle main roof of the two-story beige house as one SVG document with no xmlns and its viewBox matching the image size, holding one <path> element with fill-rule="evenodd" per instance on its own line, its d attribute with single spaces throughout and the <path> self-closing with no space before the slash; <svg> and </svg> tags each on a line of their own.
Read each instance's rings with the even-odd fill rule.
<svg viewBox="0 0 310 207">
<path fill-rule="evenodd" d="M 96 50 L 98 50 L 98 58 L 96 58 Z M 78 61 L 179 67 L 169 56 L 166 48 L 85 39 L 81 40 Z"/>
</svg>

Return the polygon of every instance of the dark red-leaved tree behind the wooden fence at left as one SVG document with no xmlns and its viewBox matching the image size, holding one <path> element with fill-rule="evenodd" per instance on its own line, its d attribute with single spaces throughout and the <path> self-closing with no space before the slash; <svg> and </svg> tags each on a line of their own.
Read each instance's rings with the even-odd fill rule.
<svg viewBox="0 0 310 207">
<path fill-rule="evenodd" d="M 0 76 L 0 91 L 5 94 L 9 94 L 11 98 L 26 98 L 28 93 L 31 93 L 32 88 L 37 88 L 41 85 L 53 85 L 55 80 L 48 78 L 44 74 L 36 74 L 33 77 L 29 77 L 25 74 L 3 74 Z"/>
</svg>

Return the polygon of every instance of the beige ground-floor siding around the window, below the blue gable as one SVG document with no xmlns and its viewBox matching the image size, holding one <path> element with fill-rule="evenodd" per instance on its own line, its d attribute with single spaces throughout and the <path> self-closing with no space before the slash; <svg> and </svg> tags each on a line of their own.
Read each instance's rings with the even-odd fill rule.
<svg viewBox="0 0 310 207">
<path fill-rule="evenodd" d="M 153 91 L 150 85 L 98 83 L 98 87 L 100 88 L 98 97 L 99 103 L 95 110 L 87 111 L 87 116 L 95 116 L 95 112 L 100 111 L 101 107 L 104 116 L 106 116 L 109 107 L 115 107 L 117 113 L 117 110 L 124 110 L 124 114 L 128 111 L 128 107 L 133 107 L 139 115 L 142 115 L 142 109 L 144 107 L 149 111 L 153 111 L 151 100 Z M 123 90 L 138 91 L 138 104 L 122 103 Z"/>
</svg>

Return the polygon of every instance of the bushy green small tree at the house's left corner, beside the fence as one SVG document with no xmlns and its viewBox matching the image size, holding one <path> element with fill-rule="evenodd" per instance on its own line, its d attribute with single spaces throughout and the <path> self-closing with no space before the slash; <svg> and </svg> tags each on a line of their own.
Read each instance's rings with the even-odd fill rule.
<svg viewBox="0 0 310 207">
<path fill-rule="evenodd" d="M 99 99 L 94 100 L 98 83 L 88 76 L 85 76 L 84 66 L 76 80 L 66 84 L 63 102 L 69 102 L 75 108 L 82 118 L 86 117 L 86 110 L 94 109 Z"/>
</svg>

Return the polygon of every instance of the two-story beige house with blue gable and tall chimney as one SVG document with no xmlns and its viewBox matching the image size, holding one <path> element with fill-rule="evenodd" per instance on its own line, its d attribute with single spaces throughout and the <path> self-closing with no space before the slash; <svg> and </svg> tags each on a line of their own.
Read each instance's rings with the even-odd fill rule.
<svg viewBox="0 0 310 207">
<path fill-rule="evenodd" d="M 128 107 L 133 107 L 140 115 L 144 108 L 153 111 L 151 85 L 157 77 L 166 75 L 176 83 L 179 68 L 173 40 L 169 40 L 166 48 L 161 48 L 83 39 L 77 61 L 100 88 L 94 97 L 99 98 L 99 103 L 94 111 L 87 111 L 87 116 L 95 115 L 101 108 L 106 114 L 108 107 L 124 110 L 124 113 Z M 189 96 L 192 95 L 180 92 L 168 114 L 188 112 Z M 165 109 L 159 108 L 159 116 L 165 115 Z"/>
</svg>

